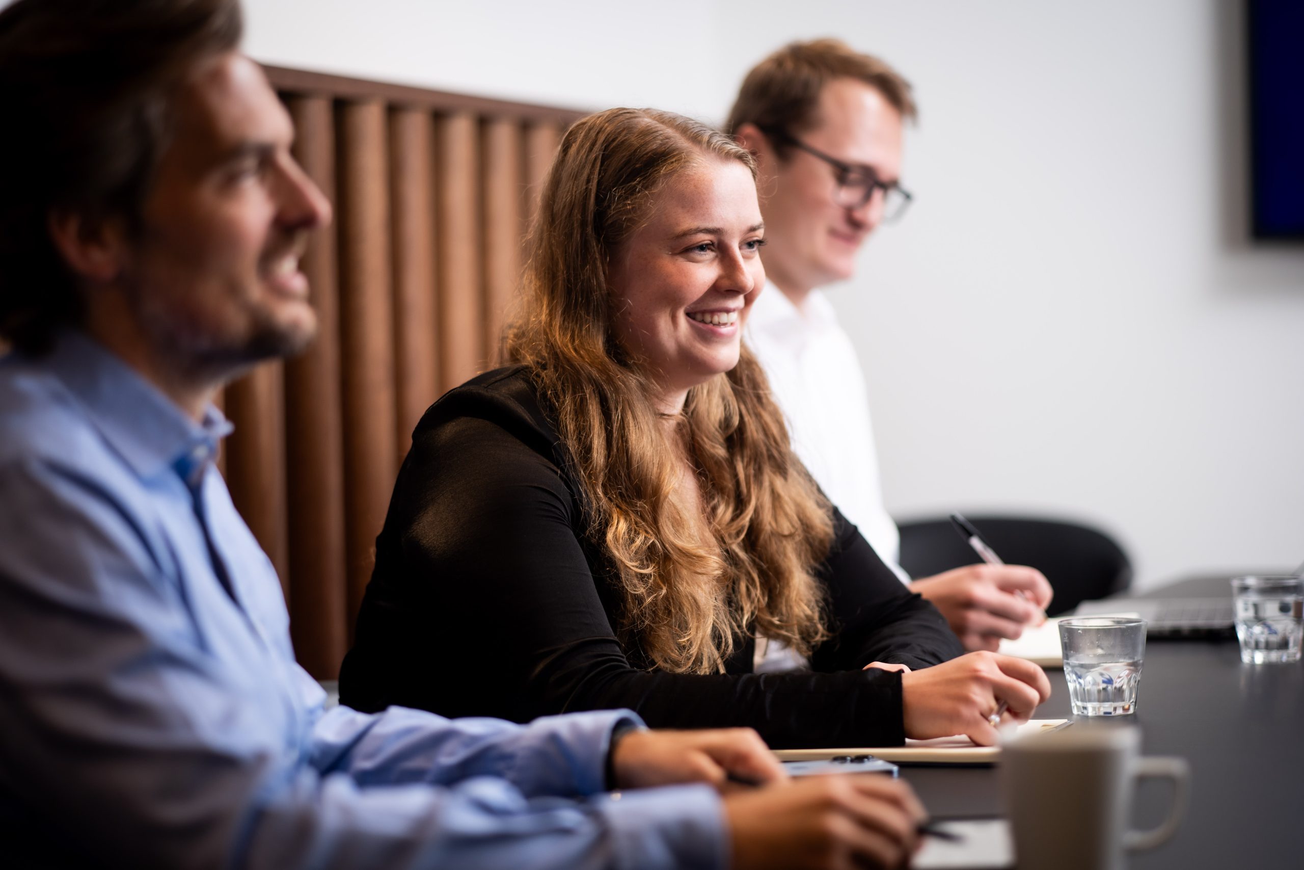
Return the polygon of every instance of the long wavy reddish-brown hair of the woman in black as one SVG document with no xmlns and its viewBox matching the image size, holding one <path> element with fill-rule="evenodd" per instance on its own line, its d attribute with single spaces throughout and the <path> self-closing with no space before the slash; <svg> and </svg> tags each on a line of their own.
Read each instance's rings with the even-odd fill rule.
<svg viewBox="0 0 1304 870">
<path fill-rule="evenodd" d="M 743 346 L 738 365 L 692 387 L 666 425 L 655 373 L 614 339 L 613 256 L 668 179 L 711 159 L 755 176 L 746 150 L 679 115 L 613 108 L 576 123 L 544 187 L 505 337 L 557 425 L 587 532 L 614 565 L 617 630 L 675 673 L 722 672 L 751 629 L 803 653 L 827 637 L 814 570 L 832 511 L 789 447 L 760 364 Z M 700 506 L 675 498 L 685 459 Z"/>
</svg>

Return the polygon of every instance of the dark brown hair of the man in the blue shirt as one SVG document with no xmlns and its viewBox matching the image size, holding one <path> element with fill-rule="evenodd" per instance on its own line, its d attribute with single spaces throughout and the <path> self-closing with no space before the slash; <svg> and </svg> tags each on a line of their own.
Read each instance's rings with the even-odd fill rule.
<svg viewBox="0 0 1304 870">
<path fill-rule="evenodd" d="M 243 29 L 239 0 L 18 0 L 0 12 L 0 338 L 40 353 L 81 320 L 50 215 L 138 227 L 170 89 Z"/>
</svg>

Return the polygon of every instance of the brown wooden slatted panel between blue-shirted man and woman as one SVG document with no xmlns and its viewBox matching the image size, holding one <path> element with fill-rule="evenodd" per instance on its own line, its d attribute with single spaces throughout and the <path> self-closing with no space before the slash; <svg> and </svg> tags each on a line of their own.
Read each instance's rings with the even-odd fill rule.
<svg viewBox="0 0 1304 870">
<path fill-rule="evenodd" d="M 269 68 L 335 205 L 304 257 L 318 338 L 231 385 L 220 463 L 300 663 L 335 678 L 412 428 L 497 364 L 526 227 L 579 112 Z"/>
</svg>

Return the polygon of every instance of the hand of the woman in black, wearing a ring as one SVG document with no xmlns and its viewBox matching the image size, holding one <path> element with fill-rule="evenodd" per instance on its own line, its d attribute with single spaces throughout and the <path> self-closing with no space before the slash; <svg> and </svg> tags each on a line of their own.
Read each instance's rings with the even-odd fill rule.
<svg viewBox="0 0 1304 870">
<path fill-rule="evenodd" d="M 917 740 L 965 734 L 979 746 L 996 742 L 988 716 L 1005 702 L 1003 720 L 1026 721 L 1051 697 L 1038 665 L 994 652 L 970 652 L 901 676 L 905 736 Z"/>
</svg>

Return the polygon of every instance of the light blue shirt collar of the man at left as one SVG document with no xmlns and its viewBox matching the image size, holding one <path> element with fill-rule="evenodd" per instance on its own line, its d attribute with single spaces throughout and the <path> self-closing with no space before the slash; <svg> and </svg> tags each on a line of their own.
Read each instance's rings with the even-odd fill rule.
<svg viewBox="0 0 1304 870">
<path fill-rule="evenodd" d="M 100 434 L 142 479 L 173 470 L 196 485 L 232 425 L 214 406 L 202 423 L 81 331 L 65 330 L 40 365 L 63 381 Z"/>
</svg>

